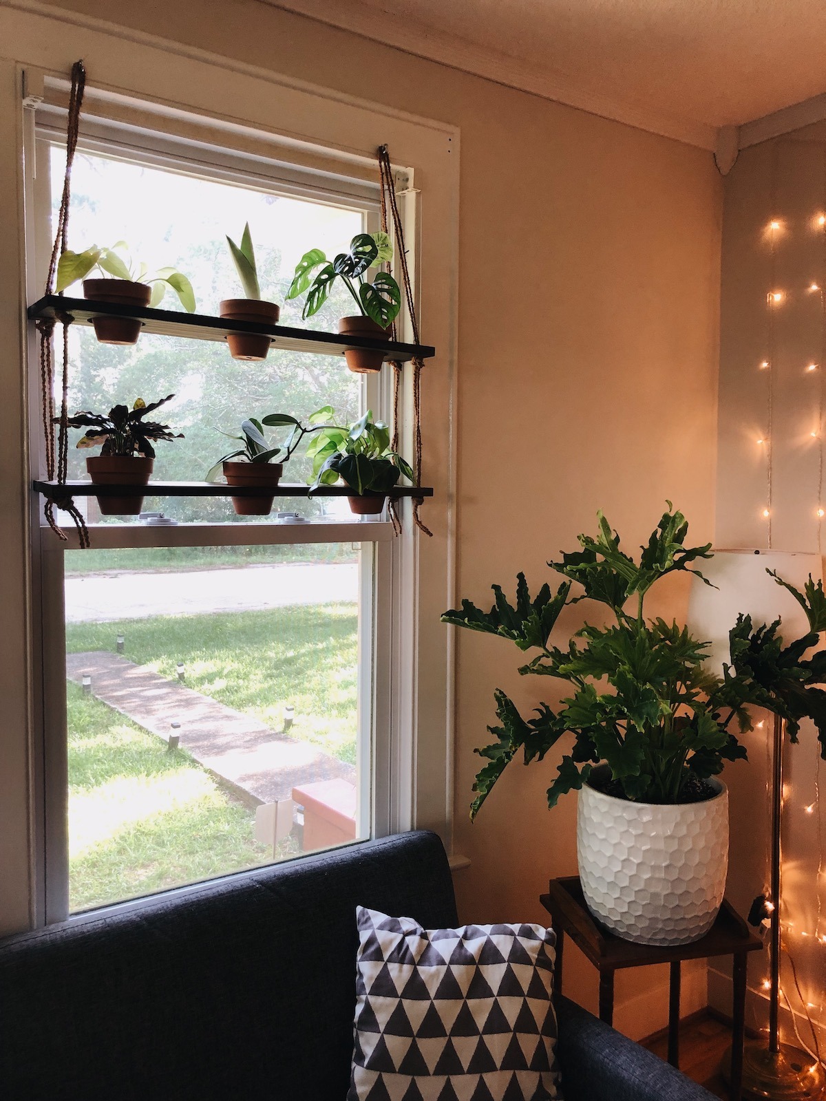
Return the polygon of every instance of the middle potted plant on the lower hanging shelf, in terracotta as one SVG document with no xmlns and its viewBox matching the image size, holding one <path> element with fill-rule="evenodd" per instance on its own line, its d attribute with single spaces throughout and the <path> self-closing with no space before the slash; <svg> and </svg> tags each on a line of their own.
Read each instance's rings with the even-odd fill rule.
<svg viewBox="0 0 826 1101">
<path fill-rule="evenodd" d="M 283 448 L 271 447 L 264 437 L 264 425 L 268 427 L 292 425 L 292 432 Z M 254 486 L 262 490 L 254 497 L 233 497 L 232 508 L 239 516 L 265 516 L 272 510 L 279 481 L 284 472 L 284 464 L 290 461 L 295 448 L 307 430 L 287 413 L 270 413 L 268 416 L 249 417 L 241 422 L 241 435 L 230 436 L 221 433 L 228 439 L 238 440 L 242 446 L 218 459 L 206 476 L 207 481 L 215 481 L 222 471 L 228 486 Z M 282 456 L 280 462 L 272 460 Z"/>
</svg>

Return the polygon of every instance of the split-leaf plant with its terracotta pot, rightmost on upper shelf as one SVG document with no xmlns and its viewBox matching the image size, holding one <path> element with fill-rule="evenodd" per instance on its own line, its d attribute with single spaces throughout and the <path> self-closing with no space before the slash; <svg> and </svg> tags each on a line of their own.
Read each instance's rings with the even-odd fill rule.
<svg viewBox="0 0 826 1101">
<path fill-rule="evenodd" d="M 370 268 L 389 262 L 393 246 L 387 233 L 357 233 L 348 252 L 339 252 L 334 260 L 320 249 L 305 252 L 295 269 L 295 277 L 286 293 L 287 298 L 306 294 L 302 318 L 317 314 L 340 279 L 358 306 L 358 314 L 343 317 L 338 331 L 352 337 L 389 340 L 390 326 L 401 309 L 402 295 L 399 284 L 388 272 L 379 272 L 372 282 L 366 279 Z M 320 269 L 320 270 L 319 270 Z M 379 371 L 385 352 L 381 348 L 348 348 L 345 359 L 351 371 L 365 374 Z"/>
</svg>

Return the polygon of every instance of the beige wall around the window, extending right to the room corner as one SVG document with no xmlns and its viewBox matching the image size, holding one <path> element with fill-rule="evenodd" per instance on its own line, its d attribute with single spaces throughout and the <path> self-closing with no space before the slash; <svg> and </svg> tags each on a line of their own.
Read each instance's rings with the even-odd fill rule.
<svg viewBox="0 0 826 1101">
<path fill-rule="evenodd" d="M 62 7 L 116 11 L 108 0 Z M 491 581 L 511 585 L 519 569 L 537 587 L 545 560 L 600 506 L 631 545 L 666 498 L 710 536 L 721 211 L 710 154 L 250 0 L 138 0 L 117 19 L 460 127 L 461 596 L 485 601 Z M 684 608 L 673 589 L 665 610 Z M 518 656 L 497 640 L 458 640 L 455 844 L 471 860 L 457 873 L 467 919 L 542 920 L 548 876 L 576 871 L 575 800 L 544 807 L 553 761 L 514 768 L 467 822 L 493 687 L 525 708 L 551 688 L 520 680 Z M 593 1005 L 593 975 L 570 962 Z M 650 977 L 621 978 L 620 1025 L 641 1035 L 662 1023 Z M 700 988 L 702 978 L 702 999 Z"/>
</svg>

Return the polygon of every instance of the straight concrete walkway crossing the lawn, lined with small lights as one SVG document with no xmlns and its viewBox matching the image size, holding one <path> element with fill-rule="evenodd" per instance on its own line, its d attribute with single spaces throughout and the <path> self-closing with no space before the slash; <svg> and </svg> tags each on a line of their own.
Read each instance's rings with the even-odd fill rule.
<svg viewBox="0 0 826 1101">
<path fill-rule="evenodd" d="M 97 699 L 164 741 L 172 733 L 171 722 L 180 722 L 175 733 L 181 748 L 249 806 L 289 799 L 294 786 L 317 780 L 356 782 L 352 765 L 308 742 L 278 734 L 145 665 L 108 651 L 67 654 L 67 678 L 81 684 L 85 673 Z"/>
</svg>

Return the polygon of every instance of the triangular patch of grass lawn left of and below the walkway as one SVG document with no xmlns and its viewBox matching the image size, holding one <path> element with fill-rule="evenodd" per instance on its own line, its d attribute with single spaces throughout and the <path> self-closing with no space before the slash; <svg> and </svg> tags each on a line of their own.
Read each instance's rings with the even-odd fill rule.
<svg viewBox="0 0 826 1101">
<path fill-rule="evenodd" d="M 253 811 L 183 750 L 169 750 L 66 685 L 69 906 L 100 906 L 272 860 Z M 294 851 L 292 839 L 280 855 Z"/>
</svg>

